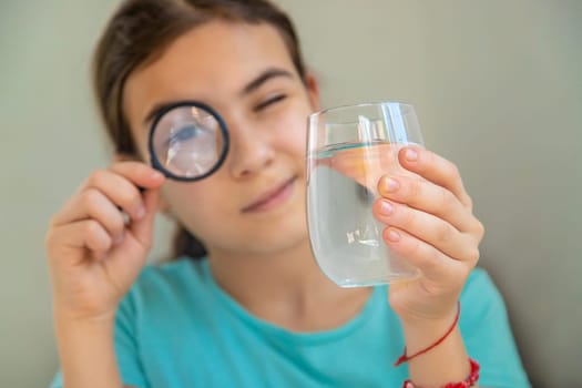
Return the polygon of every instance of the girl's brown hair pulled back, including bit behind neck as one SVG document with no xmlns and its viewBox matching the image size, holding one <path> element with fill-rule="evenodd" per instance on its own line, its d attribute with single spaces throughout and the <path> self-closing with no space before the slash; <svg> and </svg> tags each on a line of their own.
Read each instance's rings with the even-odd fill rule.
<svg viewBox="0 0 582 388">
<path fill-rule="evenodd" d="M 295 28 L 268 0 L 126 0 L 106 25 L 93 59 L 96 102 L 116 153 L 139 157 L 122 110 L 127 76 L 136 68 L 155 60 L 180 35 L 216 19 L 273 25 L 305 80 Z M 206 254 L 204 246 L 182 225 L 177 225 L 173 251 L 172 257 L 201 258 Z"/>
</svg>

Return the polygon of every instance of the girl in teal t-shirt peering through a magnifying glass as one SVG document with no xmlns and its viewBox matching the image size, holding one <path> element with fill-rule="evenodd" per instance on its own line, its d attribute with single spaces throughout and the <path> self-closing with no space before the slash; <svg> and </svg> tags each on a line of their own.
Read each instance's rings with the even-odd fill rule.
<svg viewBox="0 0 582 388">
<path fill-rule="evenodd" d="M 94 81 L 116 159 L 48 232 L 53 387 L 529 386 L 501 297 L 473 269 L 483 228 L 445 159 L 405 149 L 422 178 L 378 182 L 385 242 L 419 279 L 345 289 L 321 274 L 304 165 L 318 85 L 274 4 L 124 1 Z M 150 166 L 150 127 L 176 106 L 212 106 L 228 129 L 222 165 L 191 183 Z M 143 268 L 159 211 L 180 227 L 176 258 Z"/>
</svg>

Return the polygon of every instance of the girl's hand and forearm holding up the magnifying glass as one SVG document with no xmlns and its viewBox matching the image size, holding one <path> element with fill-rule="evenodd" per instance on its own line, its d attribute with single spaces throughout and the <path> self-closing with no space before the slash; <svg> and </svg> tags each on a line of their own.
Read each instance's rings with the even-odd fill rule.
<svg viewBox="0 0 582 388">
<path fill-rule="evenodd" d="M 51 221 L 45 245 L 67 388 L 122 387 L 115 312 L 145 264 L 162 183 L 145 164 L 115 163 L 93 173 Z"/>
</svg>

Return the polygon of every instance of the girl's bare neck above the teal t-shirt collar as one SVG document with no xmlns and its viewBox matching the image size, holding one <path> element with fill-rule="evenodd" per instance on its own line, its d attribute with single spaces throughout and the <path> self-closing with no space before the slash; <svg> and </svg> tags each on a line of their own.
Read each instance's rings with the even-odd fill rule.
<svg viewBox="0 0 582 388">
<path fill-rule="evenodd" d="M 353 318 L 369 289 L 340 288 L 317 266 L 305 239 L 277 254 L 210 251 L 216 283 L 252 314 L 296 331 L 330 329 Z"/>
</svg>

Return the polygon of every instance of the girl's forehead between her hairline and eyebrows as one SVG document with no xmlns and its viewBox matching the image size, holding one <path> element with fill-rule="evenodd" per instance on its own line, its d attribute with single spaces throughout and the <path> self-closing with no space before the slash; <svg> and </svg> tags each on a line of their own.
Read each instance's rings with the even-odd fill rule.
<svg viewBox="0 0 582 388">
<path fill-rule="evenodd" d="M 274 27 L 212 21 L 181 35 L 159 59 L 129 76 L 124 111 L 134 126 L 159 101 L 195 99 L 219 108 L 269 67 L 296 73 Z"/>
</svg>

